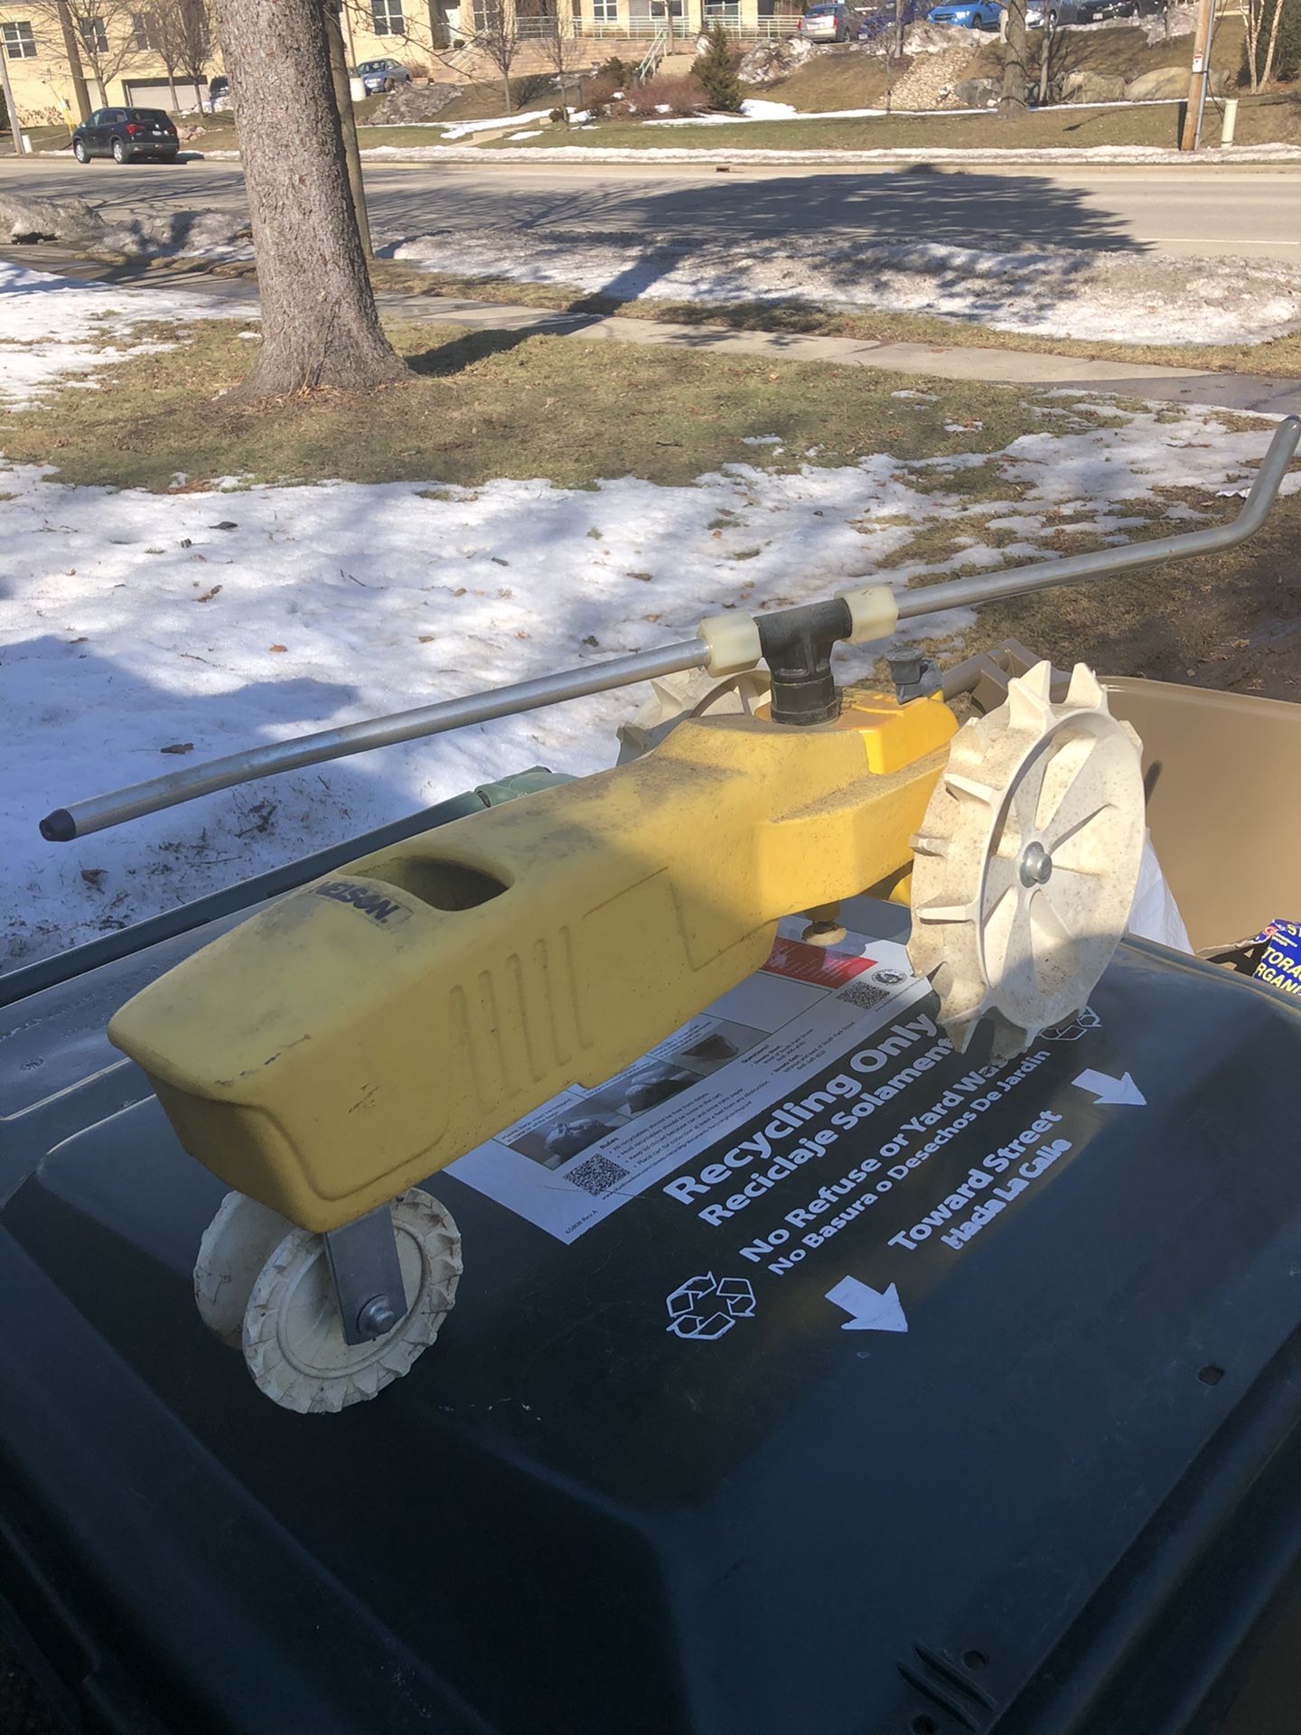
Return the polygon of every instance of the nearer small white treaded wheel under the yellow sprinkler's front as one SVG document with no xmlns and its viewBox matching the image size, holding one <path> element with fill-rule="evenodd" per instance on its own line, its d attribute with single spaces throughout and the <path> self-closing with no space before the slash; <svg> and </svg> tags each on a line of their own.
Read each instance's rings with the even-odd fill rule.
<svg viewBox="0 0 1301 1735">
<path fill-rule="evenodd" d="M 364 1404 L 434 1343 L 456 1300 L 461 1237 L 418 1187 L 392 1206 L 406 1313 L 392 1331 L 347 1343 L 323 1235 L 290 1228 L 267 1258 L 243 1317 L 243 1352 L 260 1391 L 305 1416 Z"/>
</svg>

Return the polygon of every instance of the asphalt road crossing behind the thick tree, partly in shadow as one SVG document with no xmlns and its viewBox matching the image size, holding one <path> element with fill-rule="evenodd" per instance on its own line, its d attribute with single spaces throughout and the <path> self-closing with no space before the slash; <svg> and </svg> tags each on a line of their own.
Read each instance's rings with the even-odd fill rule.
<svg viewBox="0 0 1301 1735">
<path fill-rule="evenodd" d="M 59 158 L 0 160 L 0 187 L 80 194 L 125 210 L 245 208 L 238 163 L 85 168 Z M 1301 265 L 1301 172 L 1289 168 L 970 170 L 422 163 L 366 168 L 376 239 L 432 229 L 590 229 L 597 236 L 692 232 L 737 243 L 834 232 L 864 241 L 942 241 L 1011 250 L 1141 248 L 1176 257 L 1239 253 Z"/>
</svg>

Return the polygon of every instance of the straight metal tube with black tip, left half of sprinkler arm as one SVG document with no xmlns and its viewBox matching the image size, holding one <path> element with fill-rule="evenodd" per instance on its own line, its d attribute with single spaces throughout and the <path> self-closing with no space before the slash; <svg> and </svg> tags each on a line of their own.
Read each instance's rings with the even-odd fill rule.
<svg viewBox="0 0 1301 1735">
<path fill-rule="evenodd" d="M 293 741 L 272 741 L 262 748 L 246 748 L 227 758 L 208 760 L 187 770 L 173 770 L 165 777 L 134 782 L 127 789 L 94 795 L 73 807 L 56 807 L 40 822 L 40 835 L 50 843 L 71 843 L 92 831 L 121 826 L 142 814 L 156 814 L 177 802 L 193 802 L 199 795 L 231 789 L 238 782 L 271 777 L 281 770 L 298 770 L 319 765 L 328 758 L 347 758 L 350 753 L 369 753 L 397 741 L 416 741 L 420 736 L 437 736 L 467 723 L 487 723 L 496 717 L 515 717 L 519 711 L 536 711 L 543 704 L 562 699 L 581 699 L 590 692 L 607 692 L 612 687 L 630 687 L 635 680 L 652 680 L 656 675 L 675 675 L 683 668 L 701 668 L 709 656 L 703 638 L 663 645 L 657 651 L 638 651 L 637 656 L 593 663 L 588 668 L 571 668 L 560 675 L 539 675 L 520 680 L 513 687 L 493 687 L 489 692 L 472 692 L 463 699 L 442 699 L 422 704 L 415 711 L 396 711 L 375 717 L 364 723 L 345 723 L 342 729 L 323 729 L 314 736 L 295 736 Z"/>
</svg>

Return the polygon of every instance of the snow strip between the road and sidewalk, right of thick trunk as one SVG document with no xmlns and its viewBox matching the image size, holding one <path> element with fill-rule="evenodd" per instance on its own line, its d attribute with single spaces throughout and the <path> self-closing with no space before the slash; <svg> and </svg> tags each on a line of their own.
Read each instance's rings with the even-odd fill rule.
<svg viewBox="0 0 1301 1735">
<path fill-rule="evenodd" d="M 807 300 L 945 314 L 996 331 L 1148 344 L 1259 344 L 1301 326 L 1301 267 L 1272 260 L 1169 259 L 1141 252 L 938 241 L 843 232 L 680 238 L 590 229 L 439 229 L 394 248 L 427 271 L 566 283 L 692 302 Z"/>
</svg>

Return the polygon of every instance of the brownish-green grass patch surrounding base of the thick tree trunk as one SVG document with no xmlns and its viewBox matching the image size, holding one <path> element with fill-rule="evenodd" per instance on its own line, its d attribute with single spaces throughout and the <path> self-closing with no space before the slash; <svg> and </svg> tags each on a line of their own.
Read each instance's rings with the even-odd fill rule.
<svg viewBox="0 0 1301 1735">
<path fill-rule="evenodd" d="M 99 392 L 68 387 L 49 408 L 16 411 L 3 435 L 9 462 L 54 465 L 68 482 L 160 491 L 177 472 L 193 479 L 187 486 L 241 475 L 461 486 L 550 477 L 574 488 L 618 475 L 690 482 L 720 463 L 789 472 L 874 451 L 900 460 L 996 453 L 1039 427 L 1034 404 L 1013 387 L 963 382 L 935 403 L 904 408 L 890 394 L 911 383 L 905 375 L 458 335 L 408 321 L 390 333 L 411 364 L 404 380 L 361 397 L 317 392 L 253 411 L 220 396 L 250 366 L 232 323 L 189 330 L 193 340 L 175 349 L 101 370 Z M 984 425 L 944 429 L 968 420 Z M 746 444 L 755 435 L 777 435 L 784 455 Z M 994 465 L 937 468 L 933 486 L 973 500 L 1006 494 Z"/>
</svg>

